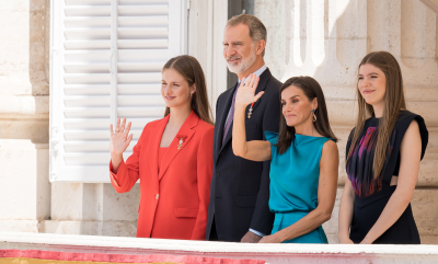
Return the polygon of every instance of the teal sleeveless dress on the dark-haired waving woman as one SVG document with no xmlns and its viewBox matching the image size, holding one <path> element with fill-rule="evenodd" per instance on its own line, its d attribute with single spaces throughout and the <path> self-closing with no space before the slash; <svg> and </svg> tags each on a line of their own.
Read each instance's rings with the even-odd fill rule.
<svg viewBox="0 0 438 264">
<path fill-rule="evenodd" d="M 270 142 L 269 209 L 275 214 L 272 233 L 287 228 L 318 206 L 320 160 L 326 137 L 295 135 L 288 150 L 277 151 L 278 134 L 265 131 Z M 328 243 L 322 226 L 284 243 Z"/>
</svg>

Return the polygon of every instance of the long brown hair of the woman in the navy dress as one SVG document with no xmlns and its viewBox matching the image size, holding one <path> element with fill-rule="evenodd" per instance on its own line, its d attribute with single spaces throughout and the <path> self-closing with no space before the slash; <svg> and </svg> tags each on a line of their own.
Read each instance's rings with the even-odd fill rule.
<svg viewBox="0 0 438 264">
<path fill-rule="evenodd" d="M 387 90 L 384 94 L 384 111 L 383 117 L 379 119 L 379 130 L 377 137 L 377 145 L 374 150 L 374 160 L 372 163 L 372 171 L 374 173 L 374 180 L 380 176 L 382 172 L 384 161 L 387 159 L 387 151 L 394 128 L 395 122 L 399 117 L 400 110 L 406 110 L 406 103 L 404 100 L 403 91 L 403 78 L 402 70 L 400 69 L 399 62 L 390 53 L 387 51 L 374 51 L 364 57 L 360 61 L 358 71 L 362 65 L 370 64 L 381 71 L 383 71 L 387 78 Z M 356 119 L 355 134 L 351 139 L 351 147 L 349 148 L 346 161 L 356 146 L 357 140 L 362 131 L 365 120 L 369 116 L 374 116 L 372 105 L 367 104 L 365 99 L 359 92 L 358 85 L 356 84 L 356 97 L 358 103 L 359 113 Z"/>
</svg>

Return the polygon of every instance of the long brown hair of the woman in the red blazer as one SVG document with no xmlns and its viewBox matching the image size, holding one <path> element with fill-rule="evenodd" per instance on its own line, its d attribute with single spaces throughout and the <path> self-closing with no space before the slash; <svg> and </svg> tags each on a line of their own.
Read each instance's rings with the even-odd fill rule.
<svg viewBox="0 0 438 264">
<path fill-rule="evenodd" d="M 212 113 L 210 104 L 208 103 L 207 96 L 207 84 L 204 76 L 203 68 L 200 67 L 198 60 L 188 55 L 181 55 L 171 58 L 163 67 L 161 72 L 165 69 L 176 70 L 192 87 L 196 83 L 196 92 L 192 96 L 192 110 L 195 112 L 200 119 L 212 125 Z M 168 116 L 171 110 L 166 106 L 164 116 Z"/>
</svg>

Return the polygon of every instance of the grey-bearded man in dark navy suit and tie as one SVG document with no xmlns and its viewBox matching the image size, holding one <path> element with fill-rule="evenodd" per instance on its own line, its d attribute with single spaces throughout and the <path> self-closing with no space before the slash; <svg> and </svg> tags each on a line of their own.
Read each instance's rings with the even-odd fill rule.
<svg viewBox="0 0 438 264">
<path fill-rule="evenodd" d="M 223 57 L 228 69 L 243 80 L 260 77 L 255 93 L 263 96 L 246 108 L 246 140 L 265 140 L 264 131 L 278 131 L 281 82 L 266 68 L 263 56 L 266 27 L 255 16 L 241 14 L 227 23 Z M 207 240 L 258 242 L 270 234 L 269 161 L 255 162 L 234 156 L 232 120 L 240 81 L 219 95 L 214 136 L 214 175 L 207 218 Z"/>
</svg>

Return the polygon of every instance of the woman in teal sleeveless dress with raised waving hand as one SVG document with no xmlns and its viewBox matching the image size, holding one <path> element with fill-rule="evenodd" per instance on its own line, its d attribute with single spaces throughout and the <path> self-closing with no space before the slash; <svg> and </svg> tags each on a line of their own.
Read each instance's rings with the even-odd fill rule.
<svg viewBox="0 0 438 264">
<path fill-rule="evenodd" d="M 242 80 L 243 83 L 244 80 Z M 338 151 L 324 93 L 311 77 L 293 77 L 280 89 L 280 131 L 265 131 L 267 141 L 246 141 L 258 78 L 250 76 L 234 103 L 233 140 L 235 156 L 270 161 L 269 209 L 275 214 L 265 243 L 327 243 L 322 223 L 331 218 L 336 198 Z M 250 105 L 251 104 L 251 105 Z M 278 110 L 280 111 L 280 110 Z"/>
</svg>

